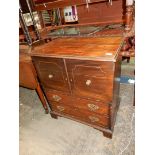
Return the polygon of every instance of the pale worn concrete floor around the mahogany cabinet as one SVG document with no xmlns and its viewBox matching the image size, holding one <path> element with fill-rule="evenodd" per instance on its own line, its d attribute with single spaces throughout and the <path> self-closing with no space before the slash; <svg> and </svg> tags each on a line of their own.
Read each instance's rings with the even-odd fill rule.
<svg viewBox="0 0 155 155">
<path fill-rule="evenodd" d="M 122 74 L 133 76 L 133 64 Z M 133 85 L 121 84 L 121 103 L 113 139 L 86 125 L 44 114 L 34 90 L 20 88 L 20 155 L 134 155 Z M 132 128 L 132 129 L 131 129 Z"/>
</svg>

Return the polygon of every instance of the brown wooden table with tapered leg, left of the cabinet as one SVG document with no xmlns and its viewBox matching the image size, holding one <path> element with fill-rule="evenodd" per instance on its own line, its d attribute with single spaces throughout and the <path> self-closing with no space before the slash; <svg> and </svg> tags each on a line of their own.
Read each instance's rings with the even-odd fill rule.
<svg viewBox="0 0 155 155">
<path fill-rule="evenodd" d="M 19 50 L 19 85 L 22 87 L 36 90 L 40 101 L 45 109 L 45 113 L 48 113 L 48 106 L 44 97 L 44 93 L 40 87 L 40 83 L 38 81 L 32 59 L 28 53 L 29 47 L 22 45 L 20 46 Z"/>
</svg>

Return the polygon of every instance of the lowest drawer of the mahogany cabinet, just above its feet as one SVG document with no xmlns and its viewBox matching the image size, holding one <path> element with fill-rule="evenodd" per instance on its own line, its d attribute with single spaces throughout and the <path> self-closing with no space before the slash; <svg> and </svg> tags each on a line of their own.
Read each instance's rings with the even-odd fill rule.
<svg viewBox="0 0 155 155">
<path fill-rule="evenodd" d="M 93 112 L 79 110 L 78 108 L 73 108 L 71 106 L 55 103 L 52 102 L 52 111 L 60 113 L 60 114 L 67 114 L 70 117 L 78 119 L 83 122 L 87 122 L 89 124 L 94 124 L 101 127 L 110 127 L 110 119 L 109 117 L 105 117 L 102 115 L 98 115 Z"/>
</svg>

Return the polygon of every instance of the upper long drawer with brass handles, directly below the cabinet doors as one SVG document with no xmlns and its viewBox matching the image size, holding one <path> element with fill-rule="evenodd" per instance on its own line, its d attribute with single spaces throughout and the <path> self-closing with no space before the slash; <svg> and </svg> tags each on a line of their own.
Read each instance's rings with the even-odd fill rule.
<svg viewBox="0 0 155 155">
<path fill-rule="evenodd" d="M 95 102 L 81 98 L 75 98 L 70 95 L 62 94 L 58 91 L 45 90 L 49 101 L 72 106 L 88 112 L 110 116 L 110 105 L 103 102 Z"/>
</svg>

